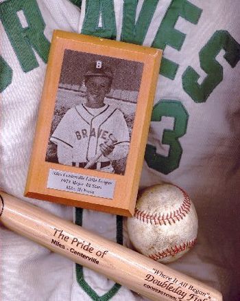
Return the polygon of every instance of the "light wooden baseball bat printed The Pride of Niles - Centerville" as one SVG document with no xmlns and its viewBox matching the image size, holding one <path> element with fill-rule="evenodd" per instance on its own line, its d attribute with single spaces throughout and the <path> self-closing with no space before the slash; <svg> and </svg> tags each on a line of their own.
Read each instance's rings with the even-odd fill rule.
<svg viewBox="0 0 240 301">
<path fill-rule="evenodd" d="M 150 300 L 222 300 L 219 291 L 204 283 L 10 194 L 1 192 L 0 203 L 5 227 Z"/>
</svg>

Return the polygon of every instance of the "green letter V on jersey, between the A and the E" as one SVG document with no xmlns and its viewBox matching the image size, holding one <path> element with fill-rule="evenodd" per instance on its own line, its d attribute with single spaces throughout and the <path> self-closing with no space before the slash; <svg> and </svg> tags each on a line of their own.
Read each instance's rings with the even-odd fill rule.
<svg viewBox="0 0 240 301">
<path fill-rule="evenodd" d="M 135 23 L 137 4 L 138 0 L 124 1 L 121 41 L 142 45 L 156 10 L 156 5 L 158 5 L 158 0 L 145 0 L 139 18 Z"/>
</svg>

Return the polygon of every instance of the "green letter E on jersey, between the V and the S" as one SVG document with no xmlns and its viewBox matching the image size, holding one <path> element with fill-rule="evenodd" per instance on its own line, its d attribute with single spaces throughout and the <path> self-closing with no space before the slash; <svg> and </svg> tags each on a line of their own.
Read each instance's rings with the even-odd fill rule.
<svg viewBox="0 0 240 301">
<path fill-rule="evenodd" d="M 165 47 L 169 45 L 170 47 L 180 50 L 186 34 L 174 28 L 179 16 L 193 24 L 197 24 L 201 13 L 202 10 L 200 10 L 200 8 L 197 8 L 197 6 L 189 3 L 187 0 L 173 0 L 160 24 L 152 47 L 165 49 Z M 163 58 L 160 68 L 160 73 L 163 76 L 173 80 L 177 71 L 178 64 L 171 62 L 171 60 L 167 58 Z"/>
</svg>

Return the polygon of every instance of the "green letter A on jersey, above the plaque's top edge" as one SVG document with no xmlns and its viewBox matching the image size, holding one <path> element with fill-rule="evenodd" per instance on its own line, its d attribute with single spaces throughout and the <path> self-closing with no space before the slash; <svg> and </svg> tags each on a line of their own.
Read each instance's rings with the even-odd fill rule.
<svg viewBox="0 0 240 301">
<path fill-rule="evenodd" d="M 112 38 L 117 35 L 113 0 L 88 0 L 82 34 Z"/>
</svg>

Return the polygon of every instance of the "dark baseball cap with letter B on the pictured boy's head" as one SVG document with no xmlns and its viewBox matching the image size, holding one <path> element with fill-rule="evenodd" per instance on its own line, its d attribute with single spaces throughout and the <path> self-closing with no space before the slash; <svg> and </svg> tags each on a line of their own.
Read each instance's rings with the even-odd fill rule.
<svg viewBox="0 0 240 301">
<path fill-rule="evenodd" d="M 86 74 L 84 76 L 105 76 L 112 80 L 113 73 L 112 69 L 102 60 L 95 60 L 95 62 L 88 65 L 86 68 Z"/>
</svg>

